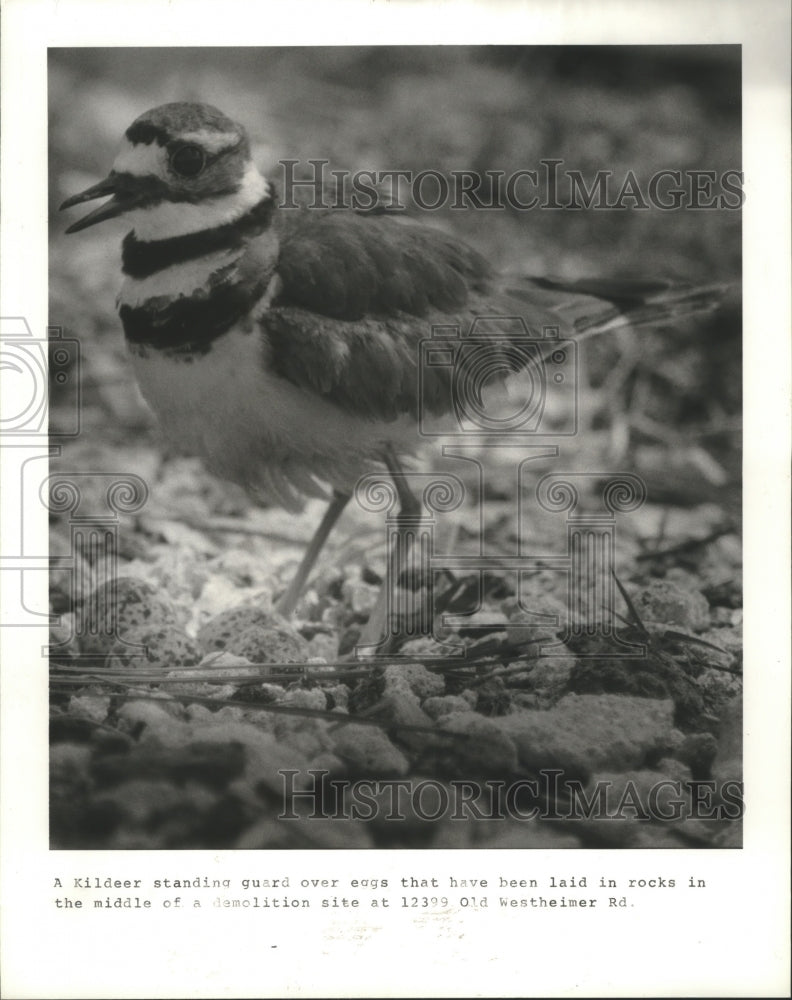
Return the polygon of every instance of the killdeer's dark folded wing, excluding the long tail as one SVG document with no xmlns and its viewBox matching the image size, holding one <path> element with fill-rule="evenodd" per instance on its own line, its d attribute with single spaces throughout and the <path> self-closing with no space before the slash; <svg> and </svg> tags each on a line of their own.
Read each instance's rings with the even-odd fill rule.
<svg viewBox="0 0 792 1000">
<path fill-rule="evenodd" d="M 535 336 L 543 323 L 559 323 L 542 307 L 492 292 L 483 258 L 436 230 L 390 215 L 304 216 L 284 234 L 282 291 L 261 320 L 268 361 L 344 410 L 384 420 L 415 413 L 422 342 L 434 332 L 433 347 L 453 347 L 438 327 L 452 328 L 453 340 L 453 329 L 464 336 L 477 316 L 525 316 Z M 501 368 L 520 367 L 501 342 L 493 340 Z M 425 405 L 447 405 L 451 374 L 449 366 L 422 368 Z"/>
</svg>

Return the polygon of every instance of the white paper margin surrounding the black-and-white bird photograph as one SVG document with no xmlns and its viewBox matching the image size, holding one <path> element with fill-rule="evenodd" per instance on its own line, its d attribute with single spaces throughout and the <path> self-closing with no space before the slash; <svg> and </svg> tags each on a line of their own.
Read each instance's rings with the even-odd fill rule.
<svg viewBox="0 0 792 1000">
<path fill-rule="evenodd" d="M 418 42 L 743 45 L 746 846 L 721 852 L 50 852 L 47 680 L 43 663 L 34 669 L 43 636 L 37 629 L 0 629 L 5 997 L 788 995 L 787 3 L 6 0 L 0 315 L 24 315 L 38 332 L 47 324 L 48 46 Z M 44 537 L 46 524 L 39 528 Z M 667 874 L 704 878 L 709 889 L 703 903 L 674 895 L 642 907 L 638 919 L 600 910 L 584 923 L 574 912 L 526 922 L 513 912 L 474 910 L 442 918 L 311 911 L 298 919 L 246 911 L 185 911 L 178 918 L 55 911 L 53 877 L 83 871 L 118 878 L 291 873 L 298 881 L 342 882 Z"/>
</svg>

